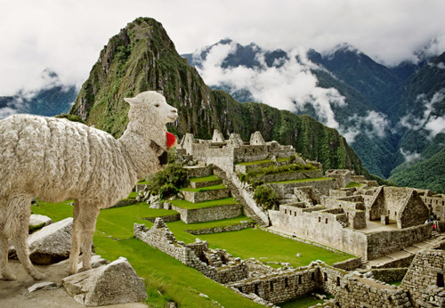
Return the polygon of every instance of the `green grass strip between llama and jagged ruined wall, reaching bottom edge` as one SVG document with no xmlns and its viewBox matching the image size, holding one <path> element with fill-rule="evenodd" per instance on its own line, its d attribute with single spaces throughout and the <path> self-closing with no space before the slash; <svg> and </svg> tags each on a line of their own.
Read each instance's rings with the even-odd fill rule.
<svg viewBox="0 0 445 308">
<path fill-rule="evenodd" d="M 32 206 L 33 213 L 48 215 L 54 222 L 72 217 L 73 207 L 69 206 L 69 201 L 39 204 L 38 207 Z M 101 210 L 93 238 L 96 254 L 110 261 L 125 256 L 147 287 L 147 303 L 150 307 L 165 307 L 169 300 L 173 300 L 179 307 L 187 308 L 221 307 L 214 301 L 227 308 L 263 307 L 206 278 L 201 272 L 183 265 L 170 255 L 133 238 L 134 223 L 149 224 L 149 227 L 151 224 L 139 217 L 168 212 L 174 211 L 166 213 L 164 210 L 150 209 L 145 203 Z"/>
</svg>

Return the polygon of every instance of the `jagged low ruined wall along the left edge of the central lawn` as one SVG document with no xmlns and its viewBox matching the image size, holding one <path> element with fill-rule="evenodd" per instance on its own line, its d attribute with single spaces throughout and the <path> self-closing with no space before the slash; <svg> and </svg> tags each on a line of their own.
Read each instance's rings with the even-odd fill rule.
<svg viewBox="0 0 445 308">
<path fill-rule="evenodd" d="M 220 249 L 208 249 L 206 241 L 197 239 L 195 243 L 187 245 L 178 242 L 160 218 L 150 230 L 143 224 L 134 223 L 134 236 L 173 256 L 181 263 L 197 269 L 211 280 L 228 283 L 247 278 L 247 265 L 241 259 L 233 258 Z"/>
</svg>

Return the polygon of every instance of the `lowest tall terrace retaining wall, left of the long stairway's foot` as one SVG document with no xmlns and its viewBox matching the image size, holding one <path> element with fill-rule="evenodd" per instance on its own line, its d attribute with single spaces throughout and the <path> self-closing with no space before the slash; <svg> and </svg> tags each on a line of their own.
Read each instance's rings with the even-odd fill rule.
<svg viewBox="0 0 445 308">
<path fill-rule="evenodd" d="M 172 205 L 172 209 L 179 212 L 181 220 L 184 223 L 212 222 L 214 220 L 234 218 L 241 215 L 241 206 L 239 204 L 192 209 Z"/>
</svg>

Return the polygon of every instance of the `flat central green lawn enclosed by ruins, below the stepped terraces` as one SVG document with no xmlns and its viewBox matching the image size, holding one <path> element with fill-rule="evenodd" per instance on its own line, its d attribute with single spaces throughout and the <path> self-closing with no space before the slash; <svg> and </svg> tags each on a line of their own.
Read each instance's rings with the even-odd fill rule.
<svg viewBox="0 0 445 308">
<path fill-rule="evenodd" d="M 257 229 L 202 234 L 198 238 L 206 240 L 211 248 L 226 249 L 242 259 L 255 257 L 262 262 L 290 263 L 295 267 L 309 265 L 315 260 L 331 265 L 353 257 Z M 296 256 L 297 253 L 302 256 Z"/>
</svg>

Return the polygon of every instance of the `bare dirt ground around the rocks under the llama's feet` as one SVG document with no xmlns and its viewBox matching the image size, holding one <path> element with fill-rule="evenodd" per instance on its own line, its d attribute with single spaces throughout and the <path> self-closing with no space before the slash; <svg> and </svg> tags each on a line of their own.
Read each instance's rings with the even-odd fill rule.
<svg viewBox="0 0 445 308">
<path fill-rule="evenodd" d="M 12 272 L 17 276 L 17 280 L 0 280 L 0 307 L 4 308 L 72 308 L 85 307 L 78 304 L 73 297 L 69 296 L 65 288 L 55 288 L 52 290 L 38 290 L 29 293 L 28 288 L 41 281 L 33 280 L 23 270 L 21 264 L 16 260 L 9 260 Z M 67 276 L 67 263 L 56 263 L 49 265 L 35 265 L 37 271 L 43 272 L 46 279 L 42 281 L 53 281 L 61 284 L 61 280 Z M 113 304 L 105 306 L 107 308 L 147 308 L 147 305 L 134 304 Z"/>
</svg>

